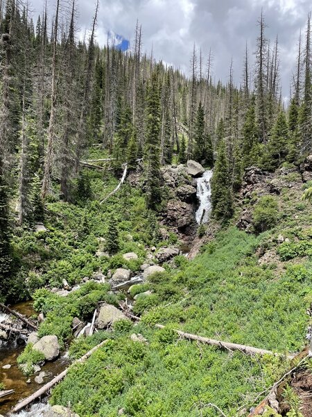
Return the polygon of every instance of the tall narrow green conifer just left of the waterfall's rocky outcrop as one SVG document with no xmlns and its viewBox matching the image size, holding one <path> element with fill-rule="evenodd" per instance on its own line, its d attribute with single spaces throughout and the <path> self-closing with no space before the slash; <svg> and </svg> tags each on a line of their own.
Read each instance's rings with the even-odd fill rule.
<svg viewBox="0 0 312 417">
<path fill-rule="evenodd" d="M 154 70 L 148 91 L 146 122 L 146 206 L 157 209 L 161 202 L 160 189 L 160 116 L 159 67 Z"/>
</svg>

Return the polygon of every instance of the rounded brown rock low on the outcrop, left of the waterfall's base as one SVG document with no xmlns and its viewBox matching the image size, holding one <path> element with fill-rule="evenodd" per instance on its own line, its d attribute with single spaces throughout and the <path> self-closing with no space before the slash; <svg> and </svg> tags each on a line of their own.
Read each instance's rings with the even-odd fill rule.
<svg viewBox="0 0 312 417">
<path fill-rule="evenodd" d="M 195 222 L 193 206 L 180 200 L 171 199 L 166 208 L 166 222 L 171 226 L 183 228 Z"/>
</svg>

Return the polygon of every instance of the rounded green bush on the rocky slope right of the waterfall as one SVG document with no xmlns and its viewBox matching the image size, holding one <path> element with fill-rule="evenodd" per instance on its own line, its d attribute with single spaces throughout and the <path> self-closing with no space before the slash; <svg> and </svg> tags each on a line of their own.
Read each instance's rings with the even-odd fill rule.
<svg viewBox="0 0 312 417">
<path fill-rule="evenodd" d="M 277 200 L 271 195 L 263 195 L 254 207 L 254 229 L 261 233 L 272 229 L 279 218 Z"/>
</svg>

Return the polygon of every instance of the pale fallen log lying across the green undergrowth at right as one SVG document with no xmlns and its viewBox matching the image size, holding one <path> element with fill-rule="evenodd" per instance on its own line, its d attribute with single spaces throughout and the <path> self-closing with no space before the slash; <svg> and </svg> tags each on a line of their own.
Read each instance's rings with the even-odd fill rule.
<svg viewBox="0 0 312 417">
<path fill-rule="evenodd" d="M 157 327 L 158 329 L 164 329 L 165 326 L 155 325 L 155 327 Z M 179 336 L 181 336 L 182 338 L 187 338 L 191 341 L 198 341 L 198 342 L 201 342 L 201 343 L 205 343 L 207 345 L 217 346 L 217 347 L 220 347 L 221 349 L 239 350 L 240 352 L 243 352 L 245 354 L 250 354 L 250 355 L 259 354 L 259 355 L 263 356 L 263 354 L 270 354 L 270 355 L 273 355 L 273 356 L 279 356 L 279 354 L 277 354 L 277 353 L 274 353 L 270 350 L 259 349 L 258 347 L 239 345 L 237 343 L 217 341 L 215 339 L 211 339 L 211 338 L 207 338 L 207 337 L 203 337 L 203 336 L 197 336 L 196 334 L 184 333 L 184 332 L 181 332 L 180 330 L 174 330 L 174 331 L 177 332 L 177 334 L 179 334 Z M 287 359 L 293 359 L 294 355 L 286 355 L 286 358 Z"/>
</svg>

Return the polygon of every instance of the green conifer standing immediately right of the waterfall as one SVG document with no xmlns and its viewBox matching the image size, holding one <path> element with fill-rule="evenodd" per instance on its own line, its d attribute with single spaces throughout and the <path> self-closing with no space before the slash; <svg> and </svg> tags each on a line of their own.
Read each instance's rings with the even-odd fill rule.
<svg viewBox="0 0 312 417">
<path fill-rule="evenodd" d="M 211 180 L 212 213 L 216 219 L 229 219 L 233 214 L 232 181 L 229 176 L 229 163 L 225 140 L 218 146 L 218 156 Z"/>
</svg>

